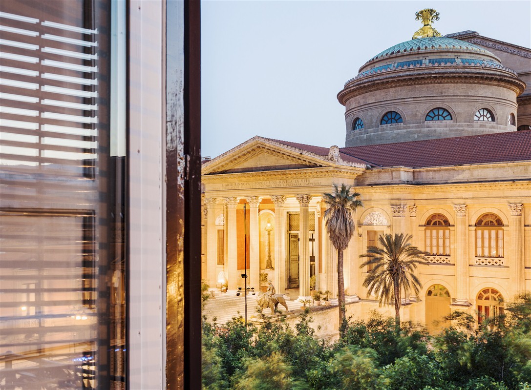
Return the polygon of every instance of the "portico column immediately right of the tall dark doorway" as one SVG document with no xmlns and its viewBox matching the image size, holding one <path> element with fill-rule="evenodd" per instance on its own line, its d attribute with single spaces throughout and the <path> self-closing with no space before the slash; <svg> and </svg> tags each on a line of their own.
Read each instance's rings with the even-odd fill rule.
<svg viewBox="0 0 531 390">
<path fill-rule="evenodd" d="M 299 297 L 310 297 L 310 214 L 312 195 L 296 195 L 299 202 Z"/>
</svg>

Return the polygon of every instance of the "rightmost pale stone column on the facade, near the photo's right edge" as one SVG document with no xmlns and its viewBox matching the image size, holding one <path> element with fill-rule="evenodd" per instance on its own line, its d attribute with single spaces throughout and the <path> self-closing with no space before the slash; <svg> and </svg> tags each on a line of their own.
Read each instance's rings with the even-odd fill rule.
<svg viewBox="0 0 531 390">
<path fill-rule="evenodd" d="M 524 217 L 522 203 L 510 203 L 511 223 L 509 225 L 511 247 L 505 249 L 504 257 L 508 258 L 510 269 L 510 281 L 512 287 L 512 297 L 524 293 L 525 275 L 524 275 Z"/>
</svg>

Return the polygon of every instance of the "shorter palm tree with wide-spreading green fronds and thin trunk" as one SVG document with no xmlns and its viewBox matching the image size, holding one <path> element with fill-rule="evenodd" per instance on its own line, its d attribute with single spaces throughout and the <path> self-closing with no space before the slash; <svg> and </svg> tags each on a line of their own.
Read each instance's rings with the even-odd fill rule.
<svg viewBox="0 0 531 390">
<path fill-rule="evenodd" d="M 380 236 L 381 248 L 370 246 L 367 253 L 359 257 L 369 257 L 360 268 L 372 266 L 367 274 L 363 286 L 369 289 L 367 297 L 371 292 L 376 293 L 380 305 L 395 300 L 395 326 L 400 330 L 400 293 L 404 291 L 414 291 L 418 294 L 422 285 L 415 270 L 418 264 L 425 264 L 427 259 L 424 252 L 409 244 L 411 235 L 404 236 L 404 233 Z"/>
</svg>

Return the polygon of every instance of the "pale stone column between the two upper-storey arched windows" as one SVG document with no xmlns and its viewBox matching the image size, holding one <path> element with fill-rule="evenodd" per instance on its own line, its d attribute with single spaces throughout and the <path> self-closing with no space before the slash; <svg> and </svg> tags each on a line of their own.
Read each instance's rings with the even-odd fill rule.
<svg viewBox="0 0 531 390">
<path fill-rule="evenodd" d="M 467 205 L 453 205 L 456 213 L 456 301 L 455 305 L 470 306 L 468 302 L 468 223 Z"/>
</svg>

